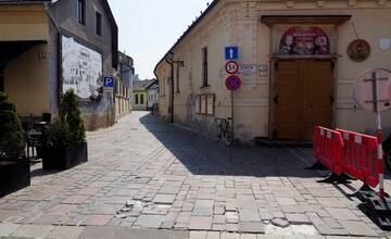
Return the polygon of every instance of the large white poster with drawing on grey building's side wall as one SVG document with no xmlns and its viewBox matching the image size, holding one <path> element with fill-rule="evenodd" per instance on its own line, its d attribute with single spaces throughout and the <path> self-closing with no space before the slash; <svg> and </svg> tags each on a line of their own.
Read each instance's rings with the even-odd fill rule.
<svg viewBox="0 0 391 239">
<path fill-rule="evenodd" d="M 102 54 L 62 37 L 63 92 L 74 89 L 81 99 L 97 97 L 103 86 L 102 70 Z"/>
</svg>

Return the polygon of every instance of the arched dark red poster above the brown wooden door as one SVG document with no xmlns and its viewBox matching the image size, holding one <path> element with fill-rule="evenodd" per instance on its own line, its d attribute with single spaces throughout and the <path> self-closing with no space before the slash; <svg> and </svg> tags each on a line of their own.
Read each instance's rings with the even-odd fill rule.
<svg viewBox="0 0 391 239">
<path fill-rule="evenodd" d="M 330 54 L 330 40 L 317 26 L 290 27 L 279 43 L 280 54 Z"/>
</svg>

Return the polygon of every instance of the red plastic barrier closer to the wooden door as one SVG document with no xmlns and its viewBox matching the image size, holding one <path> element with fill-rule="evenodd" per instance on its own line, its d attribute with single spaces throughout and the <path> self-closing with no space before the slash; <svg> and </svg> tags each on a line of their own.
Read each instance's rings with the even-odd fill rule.
<svg viewBox="0 0 391 239">
<path fill-rule="evenodd" d="M 316 126 L 314 131 L 314 156 L 336 175 L 342 171 L 343 140 L 341 133 Z"/>
</svg>

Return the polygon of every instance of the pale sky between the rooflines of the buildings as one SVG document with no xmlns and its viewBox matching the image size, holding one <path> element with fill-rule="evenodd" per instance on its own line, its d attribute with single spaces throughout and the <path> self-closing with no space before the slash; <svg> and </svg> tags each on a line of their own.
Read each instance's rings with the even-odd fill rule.
<svg viewBox="0 0 391 239">
<path fill-rule="evenodd" d="M 212 0 L 109 0 L 118 25 L 118 50 L 135 60 L 140 79 L 153 70 Z"/>
</svg>

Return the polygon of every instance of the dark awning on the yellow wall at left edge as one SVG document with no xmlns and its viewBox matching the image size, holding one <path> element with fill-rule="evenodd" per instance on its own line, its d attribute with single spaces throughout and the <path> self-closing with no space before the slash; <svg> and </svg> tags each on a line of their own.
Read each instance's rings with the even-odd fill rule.
<svg viewBox="0 0 391 239">
<path fill-rule="evenodd" d="M 26 52 L 38 43 L 46 43 L 43 40 L 23 40 L 23 41 L 0 41 L 0 65 Z"/>
</svg>

